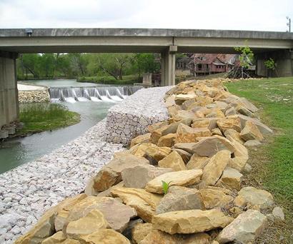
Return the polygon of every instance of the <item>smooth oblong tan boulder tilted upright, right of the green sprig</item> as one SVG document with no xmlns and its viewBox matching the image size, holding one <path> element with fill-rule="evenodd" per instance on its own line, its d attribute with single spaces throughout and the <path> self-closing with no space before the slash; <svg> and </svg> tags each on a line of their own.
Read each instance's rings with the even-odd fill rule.
<svg viewBox="0 0 293 244">
<path fill-rule="evenodd" d="M 229 163 L 231 153 L 228 150 L 219 151 L 217 154 L 212 156 L 212 158 L 204 167 L 202 172 L 202 181 L 206 185 L 215 185 L 219 178 L 222 176 L 224 168 L 226 168 Z"/>
</svg>

